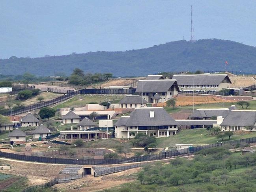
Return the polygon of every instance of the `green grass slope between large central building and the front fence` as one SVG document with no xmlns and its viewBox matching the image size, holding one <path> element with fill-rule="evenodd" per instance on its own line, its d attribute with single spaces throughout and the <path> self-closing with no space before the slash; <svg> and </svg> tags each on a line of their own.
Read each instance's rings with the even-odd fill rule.
<svg viewBox="0 0 256 192">
<path fill-rule="evenodd" d="M 248 132 L 247 134 L 239 134 L 231 136 L 230 140 L 237 140 L 241 138 L 256 137 L 256 132 Z M 224 138 L 224 141 L 228 141 L 228 138 Z M 214 144 L 222 142 L 216 136 L 209 135 L 209 131 L 206 129 L 187 129 L 181 130 L 178 134 L 172 137 L 157 138 L 157 147 L 168 147 L 175 144 Z"/>
</svg>

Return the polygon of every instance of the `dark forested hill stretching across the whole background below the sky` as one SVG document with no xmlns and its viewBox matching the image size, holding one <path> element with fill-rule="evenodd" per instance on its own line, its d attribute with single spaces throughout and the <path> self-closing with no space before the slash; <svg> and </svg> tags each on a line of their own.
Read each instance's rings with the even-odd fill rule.
<svg viewBox="0 0 256 192">
<path fill-rule="evenodd" d="M 85 54 L 0 60 L 0 73 L 38 76 L 69 75 L 75 67 L 85 73 L 113 73 L 114 76 L 144 76 L 160 71 L 228 70 L 256 72 L 256 48 L 234 41 L 203 39 L 194 43 L 174 41 L 124 52 L 97 51 Z"/>
</svg>

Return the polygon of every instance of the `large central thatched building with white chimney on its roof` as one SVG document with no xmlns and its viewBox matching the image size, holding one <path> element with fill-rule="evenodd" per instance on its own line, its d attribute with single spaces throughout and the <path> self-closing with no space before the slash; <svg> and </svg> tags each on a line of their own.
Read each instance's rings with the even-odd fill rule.
<svg viewBox="0 0 256 192">
<path fill-rule="evenodd" d="M 155 137 L 176 134 L 178 123 L 162 107 L 135 108 L 114 124 L 116 138 L 134 138 L 138 133 Z"/>
</svg>

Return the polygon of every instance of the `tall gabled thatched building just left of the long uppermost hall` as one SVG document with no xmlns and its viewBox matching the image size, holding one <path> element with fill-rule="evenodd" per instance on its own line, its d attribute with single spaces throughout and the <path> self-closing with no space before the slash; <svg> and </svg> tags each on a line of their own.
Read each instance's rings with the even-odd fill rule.
<svg viewBox="0 0 256 192">
<path fill-rule="evenodd" d="M 178 95 L 179 87 L 175 79 L 138 80 L 136 93 L 139 93 L 148 103 L 153 103 L 156 93 L 160 96 L 159 103 L 168 101 Z"/>
</svg>

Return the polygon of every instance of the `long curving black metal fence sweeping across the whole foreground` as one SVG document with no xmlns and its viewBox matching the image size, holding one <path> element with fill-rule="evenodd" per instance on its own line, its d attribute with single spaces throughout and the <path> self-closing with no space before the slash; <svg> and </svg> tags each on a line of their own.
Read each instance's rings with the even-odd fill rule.
<svg viewBox="0 0 256 192">
<path fill-rule="evenodd" d="M 235 146 L 241 143 L 255 143 L 256 137 L 247 138 L 247 139 L 240 139 L 240 140 L 233 140 L 233 141 L 225 141 L 225 142 L 218 142 L 215 144 L 208 144 L 208 145 L 200 145 L 196 147 L 189 147 L 187 149 L 179 149 L 179 150 L 172 150 L 172 151 L 164 151 L 159 154 L 153 155 L 144 155 L 144 156 L 135 156 L 129 158 L 118 158 L 118 159 L 68 159 L 68 158 L 52 158 L 52 157 L 36 157 L 36 156 L 26 156 L 26 155 L 19 155 L 15 153 L 5 153 L 0 151 L 0 157 L 17 159 L 17 160 L 24 160 L 24 161 L 32 161 L 32 162 L 43 162 L 43 163 L 54 163 L 54 164 L 78 164 L 78 165 L 103 165 L 103 164 L 123 164 L 123 163 L 132 163 L 132 162 L 143 162 L 143 161 L 152 161 L 152 160 L 160 160 L 165 158 L 176 157 L 179 155 L 186 155 L 195 153 L 202 149 L 209 149 L 212 147 L 221 147 L 224 145 Z"/>
</svg>

